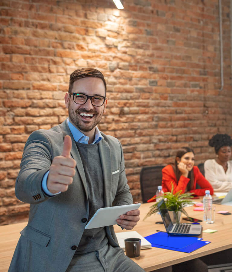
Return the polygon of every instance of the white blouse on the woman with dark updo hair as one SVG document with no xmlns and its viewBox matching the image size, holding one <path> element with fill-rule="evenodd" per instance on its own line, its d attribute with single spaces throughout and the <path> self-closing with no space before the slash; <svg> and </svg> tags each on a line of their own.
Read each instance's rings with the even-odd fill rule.
<svg viewBox="0 0 232 272">
<path fill-rule="evenodd" d="M 206 160 L 204 163 L 205 178 L 211 183 L 214 192 L 228 192 L 232 188 L 232 160 L 227 162 L 227 171 L 216 160 Z"/>
</svg>

